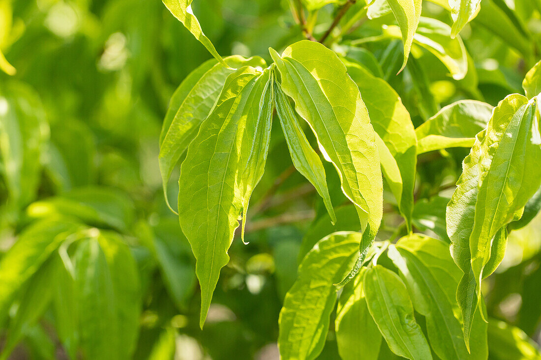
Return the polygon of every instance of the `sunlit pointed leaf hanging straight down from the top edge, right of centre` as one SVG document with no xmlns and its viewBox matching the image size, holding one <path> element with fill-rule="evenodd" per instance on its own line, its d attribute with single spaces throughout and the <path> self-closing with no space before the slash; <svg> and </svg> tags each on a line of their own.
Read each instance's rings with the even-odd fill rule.
<svg viewBox="0 0 541 360">
<path fill-rule="evenodd" d="M 411 44 L 421 17 L 421 0 L 388 0 L 388 3 L 394 18 L 397 19 L 404 42 L 404 62 L 400 68 L 402 71 L 410 56 Z"/>
</svg>

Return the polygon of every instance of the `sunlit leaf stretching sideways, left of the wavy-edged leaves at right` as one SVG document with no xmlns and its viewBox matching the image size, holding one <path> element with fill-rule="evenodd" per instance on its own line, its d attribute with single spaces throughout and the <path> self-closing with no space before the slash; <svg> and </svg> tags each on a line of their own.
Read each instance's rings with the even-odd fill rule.
<svg viewBox="0 0 541 360">
<path fill-rule="evenodd" d="M 475 100 L 460 100 L 445 106 L 415 129 L 419 154 L 453 147 L 471 147 L 475 136 L 486 128 L 493 107 Z"/>
</svg>

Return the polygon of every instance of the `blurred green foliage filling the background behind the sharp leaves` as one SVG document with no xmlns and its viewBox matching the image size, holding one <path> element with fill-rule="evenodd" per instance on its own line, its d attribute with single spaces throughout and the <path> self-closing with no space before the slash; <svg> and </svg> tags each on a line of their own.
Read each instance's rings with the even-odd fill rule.
<svg viewBox="0 0 541 360">
<path fill-rule="evenodd" d="M 485 10 L 491 6 L 496 12 Z M 484 1 L 461 32 L 469 54 L 467 81 L 454 80 L 418 45 L 399 75 L 399 40 L 366 42 L 364 50 L 348 47 L 380 35 L 392 15 L 363 21 L 334 50 L 353 51 L 373 66 L 418 126 L 459 99 L 496 105 L 522 92 L 525 72 L 539 59 L 540 10 L 537 0 Z M 282 50 L 302 38 L 285 0 L 196 0 L 193 11 L 224 56 L 269 59 L 269 46 Z M 333 11 L 333 5 L 319 11 L 315 34 L 328 28 Z M 423 16 L 451 24 L 448 11 L 434 3 L 424 2 Z M 207 50 L 160 1 L 149 0 L 0 0 L 0 49 L 16 69 L 13 76 L 0 72 L 0 349 L 12 350 L 14 359 L 97 359 L 105 353 L 137 359 L 276 358 L 278 315 L 298 259 L 329 232 L 359 230 L 351 206 L 337 209 L 339 221 L 332 226 L 311 185 L 288 174 L 287 146 L 273 132 L 266 172 L 252 197 L 249 244 L 236 240 L 229 250 L 231 260 L 201 331 L 194 258 L 164 202 L 157 155 L 169 98 L 210 58 Z M 467 152 L 419 157 L 418 231 L 445 237 L 445 205 Z M 333 181 L 338 206 L 344 198 Z M 170 185 L 174 204 L 175 182 Z M 386 200 L 380 240 L 400 235 L 392 196 Z M 55 226 L 63 231 L 61 239 L 48 234 Z M 39 238 L 42 245 L 36 244 Z M 54 241 L 61 244 L 55 252 L 60 255 L 40 256 L 54 250 L 43 246 Z M 35 251 L 33 262 L 3 261 L 2 254 L 17 244 Z M 66 276 L 74 272 L 83 280 Z M 16 275 L 24 282 L 14 282 Z M 504 262 L 486 286 L 489 315 L 541 342 L 541 217 L 511 233 Z M 57 294 L 62 292 L 67 294 Z M 78 296 L 71 304 L 80 309 L 70 309 L 70 294 Z M 492 326 L 490 346 L 524 336 L 507 326 Z M 338 356 L 333 336 L 321 358 Z M 516 353 L 507 358 L 531 358 L 520 353 L 534 351 L 532 345 L 516 342 Z"/>
</svg>

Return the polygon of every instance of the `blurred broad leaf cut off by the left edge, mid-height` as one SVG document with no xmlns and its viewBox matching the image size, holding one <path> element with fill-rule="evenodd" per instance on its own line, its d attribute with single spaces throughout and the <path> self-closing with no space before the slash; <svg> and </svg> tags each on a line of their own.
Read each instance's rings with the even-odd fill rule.
<svg viewBox="0 0 541 360">
<path fill-rule="evenodd" d="M 36 195 L 49 125 L 38 95 L 27 85 L 3 82 L 0 108 L 0 175 L 8 190 L 8 206 L 17 211 Z"/>
</svg>

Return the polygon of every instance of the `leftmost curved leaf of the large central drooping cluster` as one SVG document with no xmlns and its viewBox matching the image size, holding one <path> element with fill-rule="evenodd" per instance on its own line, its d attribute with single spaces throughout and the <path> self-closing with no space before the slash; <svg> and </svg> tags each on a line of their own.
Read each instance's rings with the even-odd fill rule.
<svg viewBox="0 0 541 360">
<path fill-rule="evenodd" d="M 231 68 L 265 66 L 260 57 L 230 56 L 225 62 Z M 212 110 L 226 78 L 234 71 L 231 68 L 214 59 L 209 60 L 191 72 L 171 97 L 160 134 L 159 155 L 163 191 L 168 203 L 167 183 L 171 173 Z"/>
</svg>

